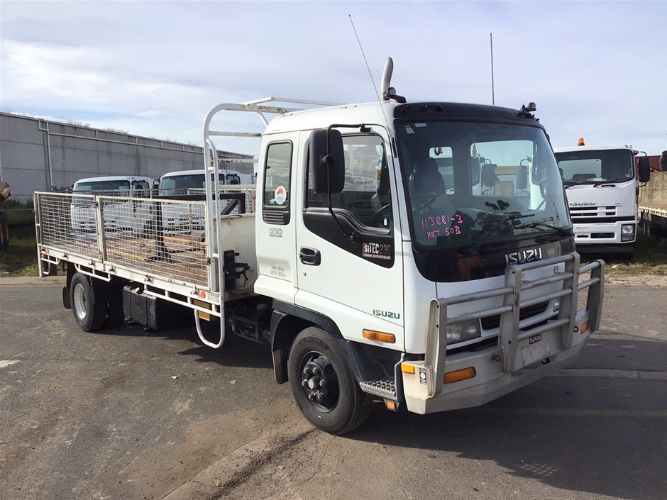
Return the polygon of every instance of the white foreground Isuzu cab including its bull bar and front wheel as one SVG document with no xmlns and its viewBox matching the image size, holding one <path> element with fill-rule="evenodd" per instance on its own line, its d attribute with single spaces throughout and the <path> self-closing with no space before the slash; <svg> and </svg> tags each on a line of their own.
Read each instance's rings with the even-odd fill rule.
<svg viewBox="0 0 667 500">
<path fill-rule="evenodd" d="M 215 113 L 260 102 L 212 110 L 206 142 Z M 269 298 L 275 377 L 314 425 L 351 430 L 365 396 L 417 413 L 484 404 L 566 365 L 597 329 L 604 263 L 579 267 L 531 111 L 395 96 L 268 123 L 253 290 Z M 593 274 L 581 287 L 580 272 Z"/>
</svg>

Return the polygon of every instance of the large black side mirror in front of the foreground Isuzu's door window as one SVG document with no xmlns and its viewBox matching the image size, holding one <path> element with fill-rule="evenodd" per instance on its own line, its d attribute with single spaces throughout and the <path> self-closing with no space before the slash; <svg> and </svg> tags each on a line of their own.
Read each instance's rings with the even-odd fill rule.
<svg viewBox="0 0 667 500">
<path fill-rule="evenodd" d="M 345 154 L 343 135 L 335 128 L 313 130 L 308 144 L 308 169 L 313 190 L 319 193 L 340 193 L 345 187 Z"/>
</svg>

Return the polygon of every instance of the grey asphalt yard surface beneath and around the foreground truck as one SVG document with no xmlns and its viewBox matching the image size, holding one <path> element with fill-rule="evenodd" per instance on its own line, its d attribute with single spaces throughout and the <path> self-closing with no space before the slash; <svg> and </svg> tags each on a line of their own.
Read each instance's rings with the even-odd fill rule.
<svg viewBox="0 0 667 500">
<path fill-rule="evenodd" d="M 667 498 L 667 287 L 608 284 L 554 377 L 475 409 L 304 421 L 270 351 L 192 331 L 84 333 L 62 277 L 0 278 L 0 498 Z"/>
</svg>

